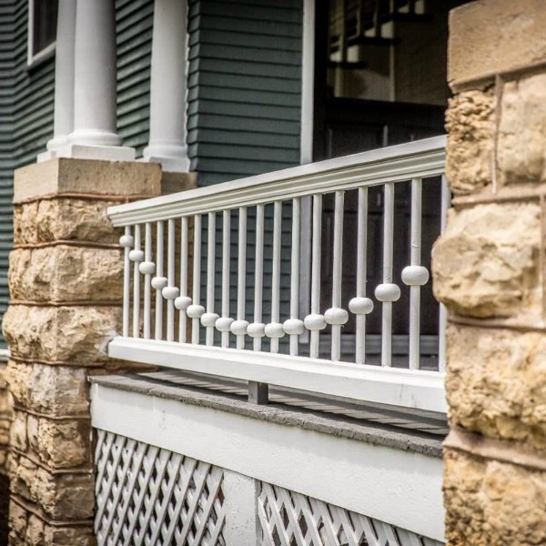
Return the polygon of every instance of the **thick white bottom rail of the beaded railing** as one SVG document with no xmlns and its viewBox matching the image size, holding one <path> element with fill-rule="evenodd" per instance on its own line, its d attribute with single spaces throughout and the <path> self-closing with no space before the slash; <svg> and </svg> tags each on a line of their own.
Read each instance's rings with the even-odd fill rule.
<svg viewBox="0 0 546 546">
<path fill-rule="evenodd" d="M 405 408 L 447 410 L 444 374 L 436 371 L 381 368 L 268 352 L 121 337 L 109 343 L 108 355 L 114 359 L 200 371 Z"/>
</svg>

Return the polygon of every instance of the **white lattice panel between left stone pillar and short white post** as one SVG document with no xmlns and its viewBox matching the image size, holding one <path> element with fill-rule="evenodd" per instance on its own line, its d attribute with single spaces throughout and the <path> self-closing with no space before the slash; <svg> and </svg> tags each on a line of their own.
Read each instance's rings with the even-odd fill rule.
<svg viewBox="0 0 546 546">
<path fill-rule="evenodd" d="M 96 430 L 99 546 L 224 546 L 222 470 Z"/>
</svg>

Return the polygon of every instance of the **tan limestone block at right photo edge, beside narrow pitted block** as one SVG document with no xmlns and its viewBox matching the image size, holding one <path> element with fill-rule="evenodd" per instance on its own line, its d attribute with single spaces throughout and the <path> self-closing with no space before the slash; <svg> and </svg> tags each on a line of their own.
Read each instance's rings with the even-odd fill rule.
<svg viewBox="0 0 546 546">
<path fill-rule="evenodd" d="M 504 184 L 546 180 L 544 89 L 546 74 L 503 87 L 497 158 Z"/>
</svg>

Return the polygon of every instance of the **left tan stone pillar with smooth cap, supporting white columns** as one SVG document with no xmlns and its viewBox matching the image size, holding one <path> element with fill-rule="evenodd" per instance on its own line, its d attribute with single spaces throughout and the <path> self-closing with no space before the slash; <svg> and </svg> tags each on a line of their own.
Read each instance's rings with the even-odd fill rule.
<svg viewBox="0 0 546 546">
<path fill-rule="evenodd" d="M 158 165 L 66 158 L 15 172 L 3 323 L 12 545 L 95 544 L 87 377 L 123 369 L 106 357 L 120 331 L 123 262 L 106 207 L 159 195 L 160 179 Z"/>
</svg>

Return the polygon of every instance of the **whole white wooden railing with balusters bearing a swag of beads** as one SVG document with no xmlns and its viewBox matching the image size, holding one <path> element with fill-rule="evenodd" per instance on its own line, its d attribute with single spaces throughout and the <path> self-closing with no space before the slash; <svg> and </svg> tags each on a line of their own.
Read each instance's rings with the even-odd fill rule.
<svg viewBox="0 0 546 546">
<path fill-rule="evenodd" d="M 257 401 L 273 384 L 444 411 L 443 309 L 437 359 L 428 360 L 436 362 L 435 369 L 421 369 L 420 359 L 421 288 L 430 282 L 421 265 L 421 191 L 427 184 L 441 185 L 435 205 L 443 225 L 450 200 L 443 179 L 444 147 L 444 137 L 429 138 L 110 207 L 114 226 L 125 227 L 120 239 L 125 285 L 123 333 L 110 343 L 109 354 L 246 379 Z M 410 248 L 398 271 L 394 223 L 403 222 L 395 218 L 400 185 L 410 185 Z M 382 279 L 372 287 L 367 276 L 369 191 L 377 187 L 382 187 Z M 349 192 L 358 194 L 356 233 L 344 232 Z M 331 302 L 321 308 L 321 252 L 327 244 L 323 200 L 330 194 Z M 351 267 L 357 274 L 344 308 L 343 253 L 351 241 L 357 250 Z M 289 269 L 284 275 L 283 266 Z M 404 285 L 410 292 L 409 343 L 400 368 L 400 359 L 393 366 L 392 324 Z M 306 296 L 308 309 L 301 304 Z M 380 305 L 374 305 L 374 298 Z M 289 308 L 283 309 L 287 299 Z M 367 362 L 370 313 L 381 313 L 377 364 Z M 351 314 L 356 320 L 349 362 L 341 348 Z M 321 337 L 328 341 L 329 358 L 319 352 Z"/>
</svg>

